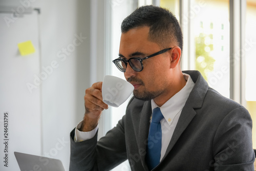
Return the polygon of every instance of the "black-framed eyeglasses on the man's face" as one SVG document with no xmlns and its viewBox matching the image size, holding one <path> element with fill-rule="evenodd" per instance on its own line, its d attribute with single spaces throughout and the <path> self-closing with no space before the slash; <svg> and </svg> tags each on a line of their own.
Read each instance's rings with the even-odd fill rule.
<svg viewBox="0 0 256 171">
<path fill-rule="evenodd" d="M 153 56 L 157 56 L 160 55 L 164 52 L 167 52 L 168 50 L 170 50 L 172 48 L 167 48 L 167 49 L 163 49 L 157 53 L 154 53 L 150 56 L 144 57 L 144 58 L 139 58 L 139 57 L 132 57 L 130 59 L 123 59 L 121 57 L 113 60 L 113 63 L 115 63 L 116 67 L 121 71 L 121 72 L 125 72 L 126 68 L 127 68 L 127 63 L 129 63 L 129 65 L 132 67 L 132 69 L 134 71 L 140 72 L 143 70 L 143 63 L 142 61 L 148 58 L 151 58 Z"/>
</svg>

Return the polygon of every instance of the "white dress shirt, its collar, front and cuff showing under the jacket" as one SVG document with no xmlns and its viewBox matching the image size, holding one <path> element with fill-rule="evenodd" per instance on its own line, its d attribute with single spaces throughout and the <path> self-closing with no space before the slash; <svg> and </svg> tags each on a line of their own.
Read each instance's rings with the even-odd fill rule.
<svg viewBox="0 0 256 171">
<path fill-rule="evenodd" d="M 173 136 L 173 133 L 178 123 L 183 106 L 185 105 L 191 90 L 195 86 L 195 83 L 193 82 L 193 80 L 188 74 L 183 73 L 183 76 L 187 80 L 186 85 L 178 93 L 176 93 L 172 98 L 170 98 L 160 107 L 160 110 L 164 116 L 164 118 L 160 121 L 161 127 L 162 127 L 162 148 L 161 148 L 160 160 L 162 160 L 166 152 L 166 149 L 168 147 L 168 144 L 170 142 L 170 139 Z M 152 106 L 152 111 L 153 109 L 159 107 L 157 106 L 157 104 L 153 99 L 151 100 L 151 106 Z M 75 137 L 74 137 L 75 142 L 85 141 L 93 138 L 98 130 L 98 125 L 97 125 L 95 129 L 90 132 L 81 132 L 78 130 L 80 129 L 81 124 L 82 124 L 82 121 L 79 122 L 76 126 Z M 168 136 L 164 136 L 164 135 L 168 135 Z"/>
</svg>

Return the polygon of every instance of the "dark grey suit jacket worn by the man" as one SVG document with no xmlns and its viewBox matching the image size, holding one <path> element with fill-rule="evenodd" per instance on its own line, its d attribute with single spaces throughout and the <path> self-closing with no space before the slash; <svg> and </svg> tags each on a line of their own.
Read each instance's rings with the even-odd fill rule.
<svg viewBox="0 0 256 171">
<path fill-rule="evenodd" d="M 254 170 L 252 121 L 240 104 L 208 87 L 198 71 L 184 71 L 195 87 L 189 94 L 160 164 L 153 170 Z M 145 163 L 151 101 L 132 98 L 126 114 L 97 142 L 75 143 L 71 132 L 70 170 L 110 170 L 128 159 L 132 170 Z"/>
</svg>

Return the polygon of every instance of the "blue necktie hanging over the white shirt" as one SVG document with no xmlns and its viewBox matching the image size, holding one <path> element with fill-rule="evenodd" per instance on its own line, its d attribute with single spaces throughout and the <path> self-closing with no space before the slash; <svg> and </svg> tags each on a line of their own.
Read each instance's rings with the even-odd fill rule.
<svg viewBox="0 0 256 171">
<path fill-rule="evenodd" d="M 155 108 L 153 110 L 150 132 L 147 138 L 146 162 L 150 170 L 156 167 L 160 162 L 162 146 L 161 119 L 163 119 L 163 115 L 160 108 Z"/>
</svg>

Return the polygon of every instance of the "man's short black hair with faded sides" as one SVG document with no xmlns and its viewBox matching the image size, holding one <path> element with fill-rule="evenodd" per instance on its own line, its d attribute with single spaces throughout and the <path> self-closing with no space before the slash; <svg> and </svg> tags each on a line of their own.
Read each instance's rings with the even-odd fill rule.
<svg viewBox="0 0 256 171">
<path fill-rule="evenodd" d="M 150 41 L 156 42 L 162 48 L 169 48 L 166 44 L 175 41 L 182 51 L 181 28 L 177 18 L 169 10 L 153 5 L 139 7 L 123 20 L 121 32 L 126 33 L 130 29 L 143 26 L 150 27 Z"/>
</svg>

